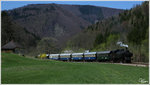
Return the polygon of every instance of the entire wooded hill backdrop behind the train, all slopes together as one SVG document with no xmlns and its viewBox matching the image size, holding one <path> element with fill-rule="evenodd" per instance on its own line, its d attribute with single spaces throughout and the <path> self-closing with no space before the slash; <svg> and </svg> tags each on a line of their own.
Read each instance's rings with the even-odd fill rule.
<svg viewBox="0 0 150 85">
<path fill-rule="evenodd" d="M 32 4 L 2 12 L 2 45 L 14 40 L 24 47 L 25 54 L 37 55 L 66 49 L 113 50 L 121 48 L 116 42 L 122 41 L 129 45 L 134 61 L 148 62 L 148 23 L 149 2 L 124 11 L 89 5 Z"/>
</svg>

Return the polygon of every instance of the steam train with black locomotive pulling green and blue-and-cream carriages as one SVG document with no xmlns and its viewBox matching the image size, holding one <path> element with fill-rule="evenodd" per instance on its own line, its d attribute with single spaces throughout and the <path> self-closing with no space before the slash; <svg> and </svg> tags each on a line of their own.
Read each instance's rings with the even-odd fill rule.
<svg viewBox="0 0 150 85">
<path fill-rule="evenodd" d="M 112 51 L 47 54 L 48 59 L 61 61 L 98 61 L 98 62 L 122 62 L 131 63 L 132 53 L 128 49 Z"/>
</svg>

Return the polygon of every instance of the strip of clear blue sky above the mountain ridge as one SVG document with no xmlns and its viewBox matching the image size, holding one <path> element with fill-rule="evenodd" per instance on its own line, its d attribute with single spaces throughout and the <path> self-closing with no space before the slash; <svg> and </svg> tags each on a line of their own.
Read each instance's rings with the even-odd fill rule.
<svg viewBox="0 0 150 85">
<path fill-rule="evenodd" d="M 69 5 L 94 5 L 117 9 L 130 9 L 143 1 L 1 1 L 2 10 L 11 10 L 28 4 L 69 4 Z"/>
</svg>

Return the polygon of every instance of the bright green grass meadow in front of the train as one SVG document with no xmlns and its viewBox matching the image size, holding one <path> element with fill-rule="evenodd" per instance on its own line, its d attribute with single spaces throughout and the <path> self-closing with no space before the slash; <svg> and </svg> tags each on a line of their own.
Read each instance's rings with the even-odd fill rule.
<svg viewBox="0 0 150 85">
<path fill-rule="evenodd" d="M 41 60 L 2 53 L 2 84 L 137 84 L 148 67 Z M 147 82 L 148 83 L 148 82 Z"/>
</svg>

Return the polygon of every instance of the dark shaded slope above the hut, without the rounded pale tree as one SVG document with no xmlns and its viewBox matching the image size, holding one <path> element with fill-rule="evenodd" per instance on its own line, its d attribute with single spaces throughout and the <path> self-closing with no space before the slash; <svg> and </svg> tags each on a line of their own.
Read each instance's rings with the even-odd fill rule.
<svg viewBox="0 0 150 85">
<path fill-rule="evenodd" d="M 13 40 L 18 42 L 24 49 L 24 53 L 31 51 L 31 48 L 36 47 L 36 43 L 40 40 L 39 37 L 33 33 L 28 32 L 25 28 L 21 27 L 17 23 L 13 22 L 8 14 L 2 12 L 2 29 L 1 29 L 1 45 Z"/>
</svg>

